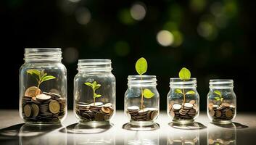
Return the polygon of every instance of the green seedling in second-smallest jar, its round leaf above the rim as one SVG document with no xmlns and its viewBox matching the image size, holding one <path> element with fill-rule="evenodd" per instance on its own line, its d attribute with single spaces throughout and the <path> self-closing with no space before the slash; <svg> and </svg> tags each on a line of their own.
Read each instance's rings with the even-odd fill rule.
<svg viewBox="0 0 256 145">
<path fill-rule="evenodd" d="M 180 78 L 181 80 L 186 81 L 186 80 L 189 80 L 189 79 L 190 79 L 191 73 L 190 73 L 190 71 L 189 71 L 188 69 L 186 69 L 185 67 L 183 67 L 183 68 L 180 70 L 180 72 L 178 73 L 178 76 L 179 76 L 179 78 Z M 192 91 L 192 90 L 187 91 L 187 92 L 185 93 L 185 89 L 184 89 L 184 88 L 183 88 L 182 90 L 179 89 L 179 88 L 177 88 L 177 89 L 175 90 L 175 92 L 176 92 L 177 94 L 182 94 L 182 95 L 183 95 L 183 105 L 184 105 L 185 102 L 186 102 L 186 95 L 196 94 L 196 93 L 195 93 L 194 91 Z"/>
</svg>

